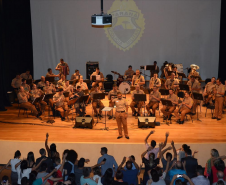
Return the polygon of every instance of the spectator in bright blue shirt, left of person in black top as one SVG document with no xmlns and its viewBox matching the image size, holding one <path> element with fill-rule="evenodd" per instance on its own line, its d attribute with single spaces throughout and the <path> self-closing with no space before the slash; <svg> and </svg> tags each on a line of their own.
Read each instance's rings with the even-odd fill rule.
<svg viewBox="0 0 226 185">
<path fill-rule="evenodd" d="M 175 166 L 175 169 L 172 169 L 173 167 Z M 172 169 L 172 170 L 171 170 Z M 171 169 L 169 170 L 169 176 L 170 176 L 170 181 L 171 181 L 171 183 L 172 182 L 174 182 L 173 181 L 173 179 L 175 180 L 175 179 L 179 179 L 179 180 L 181 180 L 182 182 L 184 182 L 185 181 L 185 179 L 183 178 L 183 177 L 177 177 L 177 175 L 179 174 L 179 175 L 183 175 L 183 174 L 185 174 L 186 175 L 186 171 L 185 170 L 182 170 L 183 168 L 182 168 L 182 164 L 181 164 L 181 162 L 180 161 L 177 161 L 177 162 L 175 162 L 175 163 L 173 163 L 173 165 L 171 166 Z M 176 177 L 176 178 L 175 178 Z M 172 183 L 173 185 L 175 185 L 175 182 L 174 183 Z M 192 183 L 193 184 L 193 183 Z"/>
</svg>

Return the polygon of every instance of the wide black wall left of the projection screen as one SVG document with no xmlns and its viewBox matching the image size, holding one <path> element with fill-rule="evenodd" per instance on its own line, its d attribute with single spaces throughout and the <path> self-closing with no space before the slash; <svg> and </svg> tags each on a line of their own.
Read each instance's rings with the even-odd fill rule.
<svg viewBox="0 0 226 185">
<path fill-rule="evenodd" d="M 33 74 L 33 49 L 30 0 L 0 0 L 0 6 L 0 85 L 4 96 L 3 93 L 11 90 L 16 73 L 30 69 Z"/>
</svg>

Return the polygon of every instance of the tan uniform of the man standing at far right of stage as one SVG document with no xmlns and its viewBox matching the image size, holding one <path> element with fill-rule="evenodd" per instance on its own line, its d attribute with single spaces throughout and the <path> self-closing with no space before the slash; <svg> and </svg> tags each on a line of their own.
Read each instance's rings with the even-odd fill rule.
<svg viewBox="0 0 226 185">
<path fill-rule="evenodd" d="M 225 87 L 223 84 L 216 85 L 217 94 L 215 95 L 215 117 L 221 119 L 224 103 L 224 95 L 218 93 L 225 93 Z"/>
</svg>

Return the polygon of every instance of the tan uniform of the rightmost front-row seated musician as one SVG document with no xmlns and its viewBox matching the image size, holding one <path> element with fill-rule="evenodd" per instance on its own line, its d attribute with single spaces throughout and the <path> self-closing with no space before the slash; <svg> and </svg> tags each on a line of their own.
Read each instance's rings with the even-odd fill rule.
<svg viewBox="0 0 226 185">
<path fill-rule="evenodd" d="M 193 105 L 193 99 L 189 96 L 189 97 L 185 97 L 183 100 L 183 103 L 189 105 L 192 107 Z M 179 117 L 179 112 L 181 113 L 181 118 Z M 174 115 L 176 117 L 176 119 L 180 119 L 180 121 L 184 121 L 184 117 L 187 113 L 191 112 L 191 109 L 189 109 L 186 105 L 181 105 L 178 109 L 176 109 L 174 111 Z"/>
</svg>

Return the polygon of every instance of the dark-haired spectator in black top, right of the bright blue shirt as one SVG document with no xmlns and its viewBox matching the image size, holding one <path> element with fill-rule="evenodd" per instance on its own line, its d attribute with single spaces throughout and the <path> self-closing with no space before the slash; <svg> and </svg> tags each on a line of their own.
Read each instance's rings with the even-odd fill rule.
<svg viewBox="0 0 226 185">
<path fill-rule="evenodd" d="M 185 168 L 186 168 L 187 176 L 189 178 L 193 178 L 196 176 L 196 168 L 198 166 L 197 159 L 192 157 L 191 149 L 185 150 L 185 156 L 186 156 L 185 158 L 181 159 L 181 162 L 186 163 Z"/>
</svg>

